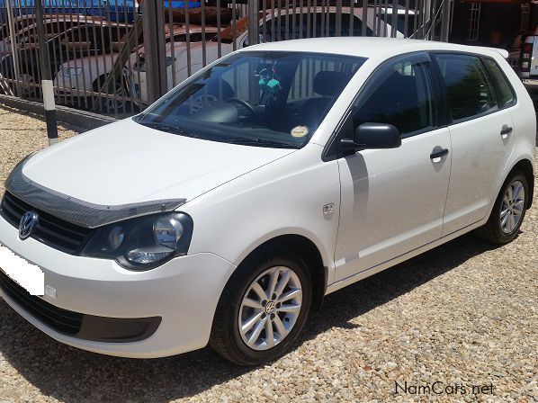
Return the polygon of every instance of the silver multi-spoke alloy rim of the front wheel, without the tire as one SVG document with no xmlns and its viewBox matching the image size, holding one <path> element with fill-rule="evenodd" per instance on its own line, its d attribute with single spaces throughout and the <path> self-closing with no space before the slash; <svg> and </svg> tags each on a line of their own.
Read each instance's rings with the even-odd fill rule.
<svg viewBox="0 0 538 403">
<path fill-rule="evenodd" d="M 289 267 L 261 273 L 247 289 L 239 309 L 239 334 L 250 348 L 268 350 L 288 336 L 302 303 L 299 276 Z"/>
</svg>

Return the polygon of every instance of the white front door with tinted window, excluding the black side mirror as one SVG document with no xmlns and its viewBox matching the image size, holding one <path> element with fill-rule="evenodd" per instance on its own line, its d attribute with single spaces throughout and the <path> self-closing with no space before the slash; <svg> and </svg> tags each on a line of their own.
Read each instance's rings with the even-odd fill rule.
<svg viewBox="0 0 538 403">
<path fill-rule="evenodd" d="M 441 237 L 452 148 L 440 124 L 434 77 L 427 54 L 393 59 L 378 68 L 355 103 L 354 128 L 392 124 L 402 145 L 338 160 L 336 281 Z"/>
</svg>

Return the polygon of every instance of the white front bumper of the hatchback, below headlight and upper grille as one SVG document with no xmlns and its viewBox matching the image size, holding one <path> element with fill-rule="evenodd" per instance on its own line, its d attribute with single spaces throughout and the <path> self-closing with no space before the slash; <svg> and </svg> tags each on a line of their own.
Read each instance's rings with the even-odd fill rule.
<svg viewBox="0 0 538 403">
<path fill-rule="evenodd" d="M 155 358 L 207 345 L 213 314 L 235 269 L 213 254 L 177 257 L 148 272 L 130 272 L 110 260 L 67 255 L 39 241 L 18 237 L 17 228 L 0 217 L 0 244 L 45 273 L 56 298 L 41 300 L 60 309 L 103 318 L 162 318 L 146 339 L 90 341 L 58 333 L 0 289 L 0 296 L 23 318 L 61 343 L 100 354 Z"/>
</svg>

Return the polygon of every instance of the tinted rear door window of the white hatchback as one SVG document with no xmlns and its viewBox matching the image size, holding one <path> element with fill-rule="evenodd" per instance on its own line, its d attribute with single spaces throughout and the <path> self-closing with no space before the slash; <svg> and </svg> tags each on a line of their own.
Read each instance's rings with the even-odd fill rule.
<svg viewBox="0 0 538 403">
<path fill-rule="evenodd" d="M 486 67 L 477 56 L 437 54 L 453 121 L 498 110 L 497 95 Z"/>
</svg>

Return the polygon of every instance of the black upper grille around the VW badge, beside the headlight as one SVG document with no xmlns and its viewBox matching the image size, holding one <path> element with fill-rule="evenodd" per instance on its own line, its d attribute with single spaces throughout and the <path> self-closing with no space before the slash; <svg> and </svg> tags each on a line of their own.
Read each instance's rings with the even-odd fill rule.
<svg viewBox="0 0 538 403">
<path fill-rule="evenodd" d="M 34 209 L 30 204 L 9 192 L 4 194 L 0 214 L 13 227 L 18 228 L 22 215 L 30 210 L 34 210 L 39 216 L 39 223 L 31 234 L 32 238 L 67 254 L 76 255 L 80 252 L 91 229 L 77 226 L 44 211 Z"/>
</svg>

